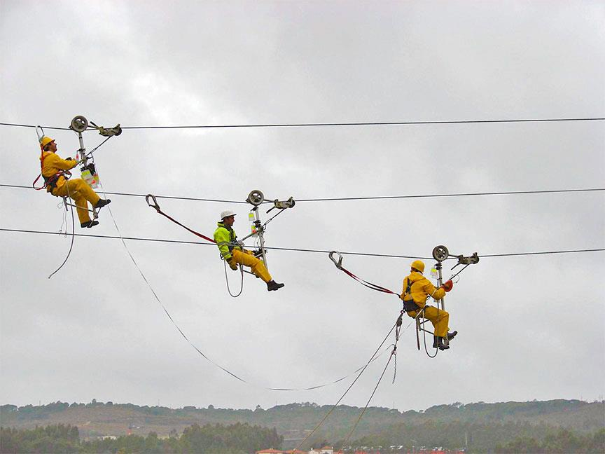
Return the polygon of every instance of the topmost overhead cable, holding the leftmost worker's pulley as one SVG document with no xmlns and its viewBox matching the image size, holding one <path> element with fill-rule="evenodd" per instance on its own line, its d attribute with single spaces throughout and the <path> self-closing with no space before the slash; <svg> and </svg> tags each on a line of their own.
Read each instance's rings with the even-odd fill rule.
<svg viewBox="0 0 605 454">
<path fill-rule="evenodd" d="M 480 123 L 547 123 L 553 121 L 603 121 L 605 118 L 511 118 L 508 120 L 443 120 L 443 121 L 356 121 L 342 123 L 256 123 L 249 125 L 158 125 L 158 126 L 121 126 L 123 130 L 149 130 L 149 129 L 213 129 L 213 128 L 302 128 L 311 126 L 403 126 L 403 125 L 468 125 Z M 36 128 L 36 125 L 20 123 L 0 123 L 1 126 L 16 126 L 21 128 Z M 52 130 L 70 130 L 57 126 L 42 126 Z M 91 128 L 90 131 L 95 129 Z"/>
</svg>

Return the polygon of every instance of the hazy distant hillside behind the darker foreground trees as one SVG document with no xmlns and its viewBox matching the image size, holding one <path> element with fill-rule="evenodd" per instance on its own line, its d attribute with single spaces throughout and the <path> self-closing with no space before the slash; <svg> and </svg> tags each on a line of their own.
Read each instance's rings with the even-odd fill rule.
<svg viewBox="0 0 605 454">
<path fill-rule="evenodd" d="M 137 406 L 133 404 L 102 403 L 93 399 L 89 404 L 56 402 L 43 406 L 0 406 L 0 424 L 18 429 L 45 425 L 77 426 L 83 439 L 95 436 L 120 436 L 125 434 L 147 435 L 155 432 L 167 436 L 171 431 L 181 433 L 190 425 L 237 422 L 275 427 L 284 435 L 284 446 L 302 439 L 331 406 L 319 406 L 305 402 L 274 406 L 264 410 L 233 410 L 231 408 L 167 408 L 161 406 Z M 344 439 L 359 416 L 360 408 L 338 406 L 326 420 L 314 439 Z M 405 427 L 427 424 L 442 427 L 456 423 L 459 427 L 481 425 L 506 426 L 511 423 L 563 427 L 576 432 L 594 432 L 605 427 L 605 401 L 585 402 L 578 400 L 551 400 L 528 402 L 501 402 L 496 404 L 439 405 L 426 411 L 404 411 L 370 407 L 366 411 L 355 438 L 404 430 Z M 389 429 L 390 428 L 390 429 Z M 458 429 L 457 429 L 458 430 Z M 387 432 L 385 432 L 387 431 Z M 463 430 L 464 432 L 464 430 Z M 173 432 L 174 433 L 174 432 Z"/>
</svg>

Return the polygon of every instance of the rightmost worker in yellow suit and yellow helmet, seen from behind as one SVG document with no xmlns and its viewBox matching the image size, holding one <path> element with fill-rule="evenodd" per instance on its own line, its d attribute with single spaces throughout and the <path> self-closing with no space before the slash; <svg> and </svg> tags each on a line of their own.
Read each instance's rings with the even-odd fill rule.
<svg viewBox="0 0 605 454">
<path fill-rule="evenodd" d="M 408 312 L 408 315 L 412 318 L 416 317 L 422 308 L 425 308 L 424 318 L 431 320 L 434 327 L 433 348 L 446 350 L 450 346 L 443 343 L 445 336 L 450 341 L 457 335 L 458 331 L 448 333 L 447 324 L 450 321 L 450 314 L 445 310 L 426 305 L 426 299 L 431 296 L 435 300 L 440 300 L 445 296 L 446 291 L 452 289 L 454 284 L 450 280 L 437 289 L 422 273 L 424 273 L 424 263 L 421 260 L 413 261 L 410 275 L 403 279 L 403 290 L 399 298 L 403 300 L 405 312 Z"/>
</svg>

